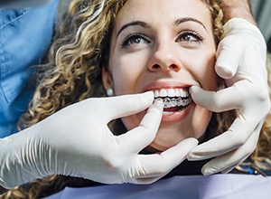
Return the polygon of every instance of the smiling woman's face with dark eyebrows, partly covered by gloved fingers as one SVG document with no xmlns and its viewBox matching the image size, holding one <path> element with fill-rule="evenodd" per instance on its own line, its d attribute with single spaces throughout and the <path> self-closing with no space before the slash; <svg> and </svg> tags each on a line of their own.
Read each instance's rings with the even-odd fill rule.
<svg viewBox="0 0 271 199">
<path fill-rule="evenodd" d="M 188 89 L 217 89 L 215 52 L 210 11 L 201 0 L 128 0 L 114 24 L 104 84 L 115 95 L 153 90 L 166 101 L 151 144 L 165 150 L 204 136 L 211 113 L 192 102 Z M 135 128 L 144 114 L 122 120 Z"/>
</svg>

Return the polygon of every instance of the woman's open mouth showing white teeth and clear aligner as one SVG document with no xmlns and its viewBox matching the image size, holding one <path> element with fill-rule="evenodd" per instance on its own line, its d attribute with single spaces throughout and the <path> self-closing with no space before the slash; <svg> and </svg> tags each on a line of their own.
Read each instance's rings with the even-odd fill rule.
<svg viewBox="0 0 271 199">
<path fill-rule="evenodd" d="M 187 108 L 192 103 L 188 90 L 162 89 L 154 90 L 154 99 L 164 100 L 164 112 L 176 112 Z"/>
</svg>

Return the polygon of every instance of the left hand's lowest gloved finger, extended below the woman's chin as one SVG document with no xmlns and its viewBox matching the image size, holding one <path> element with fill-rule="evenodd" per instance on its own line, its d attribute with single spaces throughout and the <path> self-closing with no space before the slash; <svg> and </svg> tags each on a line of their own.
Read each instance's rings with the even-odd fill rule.
<svg viewBox="0 0 271 199">
<path fill-rule="evenodd" d="M 138 177 L 140 176 L 142 179 L 143 177 L 149 178 L 168 174 L 175 166 L 181 164 L 192 147 L 197 145 L 198 140 L 191 137 L 184 139 L 161 154 L 139 155 L 139 161 L 145 173 L 139 174 Z"/>
</svg>

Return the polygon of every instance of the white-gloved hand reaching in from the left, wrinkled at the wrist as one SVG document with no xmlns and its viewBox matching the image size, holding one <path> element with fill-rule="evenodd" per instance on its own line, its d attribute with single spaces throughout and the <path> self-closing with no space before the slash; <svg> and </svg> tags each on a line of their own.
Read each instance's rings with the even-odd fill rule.
<svg viewBox="0 0 271 199">
<path fill-rule="evenodd" d="M 71 105 L 42 122 L 0 140 L 0 184 L 9 188 L 61 174 L 100 183 L 148 184 L 179 165 L 198 144 L 188 138 L 161 154 L 138 155 L 154 139 L 163 101 L 155 101 L 139 127 L 113 136 L 107 123 L 147 109 L 153 92 L 89 99 Z"/>
</svg>

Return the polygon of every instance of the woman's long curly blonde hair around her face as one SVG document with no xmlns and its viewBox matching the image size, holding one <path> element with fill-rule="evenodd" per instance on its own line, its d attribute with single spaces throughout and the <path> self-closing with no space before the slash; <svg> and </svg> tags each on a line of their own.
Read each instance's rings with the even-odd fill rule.
<svg viewBox="0 0 271 199">
<path fill-rule="evenodd" d="M 29 109 L 21 118 L 20 128 L 30 127 L 77 101 L 106 95 L 101 81 L 101 69 L 102 66 L 107 66 L 108 43 L 114 20 L 126 1 L 71 2 L 69 13 L 54 37 L 48 63 L 39 66 L 37 90 Z M 223 13 L 216 0 L 202 1 L 210 9 L 213 33 L 219 43 L 223 38 Z M 270 85 L 270 80 L 268 83 Z M 213 114 L 208 131 L 212 136 L 217 136 L 229 128 L 234 118 L 234 111 Z M 266 118 L 257 149 L 251 155 L 258 166 L 266 166 L 266 156 L 271 153 L 268 149 L 271 143 L 270 119 Z M 65 185 L 69 185 L 69 179 L 67 176 L 50 175 L 28 185 L 17 186 L 7 191 L 3 197 L 39 198 L 60 191 Z M 48 193 L 49 189 L 53 191 Z"/>
</svg>

